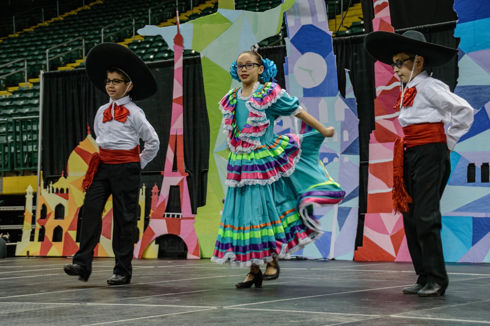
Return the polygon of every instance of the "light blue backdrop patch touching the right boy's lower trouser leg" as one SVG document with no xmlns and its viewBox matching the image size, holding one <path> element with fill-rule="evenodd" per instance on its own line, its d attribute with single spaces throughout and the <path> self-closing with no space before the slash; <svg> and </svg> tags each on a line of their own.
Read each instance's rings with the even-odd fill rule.
<svg viewBox="0 0 490 326">
<path fill-rule="evenodd" d="M 458 261 L 471 248 L 473 218 L 471 216 L 442 216 L 442 250 L 444 261 Z"/>
</svg>

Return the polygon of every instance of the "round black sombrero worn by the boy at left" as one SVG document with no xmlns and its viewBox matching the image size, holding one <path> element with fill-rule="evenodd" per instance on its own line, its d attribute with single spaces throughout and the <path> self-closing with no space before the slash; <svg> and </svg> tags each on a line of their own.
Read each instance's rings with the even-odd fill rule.
<svg viewBox="0 0 490 326">
<path fill-rule="evenodd" d="M 105 92 L 103 81 L 110 68 L 123 71 L 131 79 L 133 100 L 144 100 L 156 93 L 155 77 L 136 53 L 117 43 L 101 43 L 93 47 L 87 54 L 85 69 L 90 81 L 102 92 Z"/>
</svg>

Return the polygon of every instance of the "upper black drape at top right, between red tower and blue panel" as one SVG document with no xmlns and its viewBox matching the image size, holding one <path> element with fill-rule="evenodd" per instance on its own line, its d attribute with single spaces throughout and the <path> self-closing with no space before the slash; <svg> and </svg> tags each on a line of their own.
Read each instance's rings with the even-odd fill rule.
<svg viewBox="0 0 490 326">
<path fill-rule="evenodd" d="M 389 4 L 394 29 L 452 22 L 458 19 L 453 10 L 454 0 L 389 0 Z"/>
</svg>

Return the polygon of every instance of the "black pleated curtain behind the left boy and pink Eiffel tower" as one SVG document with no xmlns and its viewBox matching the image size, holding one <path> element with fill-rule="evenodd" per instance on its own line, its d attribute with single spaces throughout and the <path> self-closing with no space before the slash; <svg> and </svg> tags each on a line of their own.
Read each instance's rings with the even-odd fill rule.
<svg viewBox="0 0 490 326">
<path fill-rule="evenodd" d="M 172 113 L 173 60 L 152 62 L 148 67 L 159 85 L 158 92 L 137 104 L 155 128 L 160 138 L 160 150 L 142 172 L 142 182 L 147 187 L 146 216 L 150 209 L 151 188 L 156 183 L 160 189 L 160 171 L 165 166 Z M 196 213 L 197 207 L 206 202 L 209 164 L 209 121 L 199 57 L 184 58 L 183 83 L 184 159 L 189 172 L 187 180 L 192 209 Z M 85 69 L 46 73 L 43 96 L 42 155 L 43 178 L 46 180 L 66 170 L 70 153 L 87 136 L 87 125 L 93 130 L 95 113 L 100 105 L 108 102 L 108 96 L 91 84 Z M 178 196 L 171 196 L 169 205 L 174 212 L 178 212 L 179 202 Z"/>
</svg>

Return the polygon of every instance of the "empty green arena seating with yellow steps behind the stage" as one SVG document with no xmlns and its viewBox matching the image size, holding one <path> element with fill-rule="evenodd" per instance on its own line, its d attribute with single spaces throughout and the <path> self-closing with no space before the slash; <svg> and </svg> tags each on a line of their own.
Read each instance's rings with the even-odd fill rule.
<svg viewBox="0 0 490 326">
<path fill-rule="evenodd" d="M 173 59 L 173 51 L 161 36 L 144 37 L 136 30 L 148 24 L 175 25 L 176 11 L 181 23 L 212 14 L 218 9 L 217 1 L 148 0 L 138 5 L 132 0 L 2 2 L 1 176 L 24 176 L 37 170 L 41 70 L 83 68 L 86 53 L 102 41 L 123 44 L 145 62 Z M 280 3 L 281 0 L 237 0 L 235 6 L 238 10 L 265 11 Z M 334 35 L 364 33 L 359 0 L 327 0 L 325 4 Z M 285 37 L 284 23 L 279 34 L 255 46 L 282 45 Z M 199 53 L 184 50 L 184 56 L 194 55 Z"/>
</svg>

